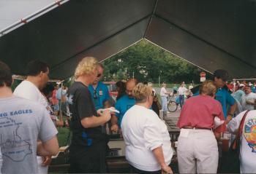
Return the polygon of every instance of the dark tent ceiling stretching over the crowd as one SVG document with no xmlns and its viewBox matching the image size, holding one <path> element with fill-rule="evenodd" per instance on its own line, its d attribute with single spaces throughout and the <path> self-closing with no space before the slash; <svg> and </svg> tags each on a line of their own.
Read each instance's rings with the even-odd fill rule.
<svg viewBox="0 0 256 174">
<path fill-rule="evenodd" d="M 86 55 L 147 39 L 206 71 L 256 77 L 255 17 L 251 0 L 71 0 L 1 36 L 0 55 L 15 74 L 39 59 L 64 79 Z"/>
</svg>

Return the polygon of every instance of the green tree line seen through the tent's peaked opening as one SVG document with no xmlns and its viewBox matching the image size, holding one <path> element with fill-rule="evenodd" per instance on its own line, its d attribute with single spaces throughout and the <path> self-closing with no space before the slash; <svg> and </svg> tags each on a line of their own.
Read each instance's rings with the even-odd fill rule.
<svg viewBox="0 0 256 174">
<path fill-rule="evenodd" d="M 118 81 L 135 77 L 140 82 L 160 81 L 166 83 L 199 83 L 200 72 L 197 66 L 146 40 L 139 41 L 107 60 L 104 81 Z M 206 76 L 211 74 L 206 73 Z"/>
</svg>

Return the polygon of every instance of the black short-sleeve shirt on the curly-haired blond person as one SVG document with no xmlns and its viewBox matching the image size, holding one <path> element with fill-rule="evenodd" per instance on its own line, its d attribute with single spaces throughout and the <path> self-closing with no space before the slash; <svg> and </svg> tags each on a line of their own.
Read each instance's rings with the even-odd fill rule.
<svg viewBox="0 0 256 174">
<path fill-rule="evenodd" d="M 97 116 L 88 87 L 81 82 L 74 82 L 67 91 L 69 111 L 71 113 L 72 146 L 93 146 L 105 141 L 102 127 L 84 128 L 81 119 Z"/>
</svg>

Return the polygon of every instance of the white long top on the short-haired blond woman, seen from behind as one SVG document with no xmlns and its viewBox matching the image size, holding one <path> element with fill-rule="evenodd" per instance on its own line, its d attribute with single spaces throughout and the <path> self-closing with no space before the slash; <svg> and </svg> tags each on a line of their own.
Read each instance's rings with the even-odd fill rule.
<svg viewBox="0 0 256 174">
<path fill-rule="evenodd" d="M 161 167 L 152 150 L 162 146 L 166 165 L 170 164 L 173 150 L 165 123 L 151 109 L 132 106 L 124 114 L 121 130 L 126 144 L 125 157 L 129 164 L 140 170 L 157 171 Z"/>
</svg>

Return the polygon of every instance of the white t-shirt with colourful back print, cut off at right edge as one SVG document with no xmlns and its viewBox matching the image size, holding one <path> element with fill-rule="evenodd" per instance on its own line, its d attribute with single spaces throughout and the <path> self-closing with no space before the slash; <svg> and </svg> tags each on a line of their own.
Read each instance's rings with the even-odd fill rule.
<svg viewBox="0 0 256 174">
<path fill-rule="evenodd" d="M 227 129 L 230 133 L 238 130 L 241 119 L 246 111 L 241 112 L 233 118 L 228 124 Z M 249 111 L 244 121 L 243 135 L 241 135 L 240 146 L 240 172 L 256 172 L 256 110 Z"/>
</svg>

